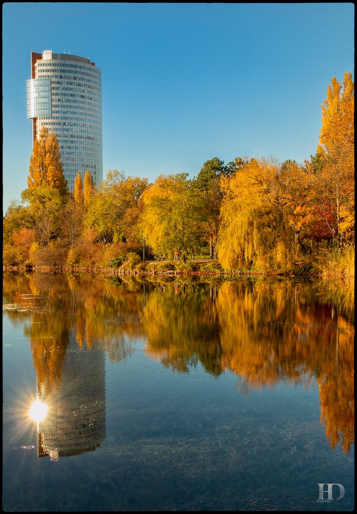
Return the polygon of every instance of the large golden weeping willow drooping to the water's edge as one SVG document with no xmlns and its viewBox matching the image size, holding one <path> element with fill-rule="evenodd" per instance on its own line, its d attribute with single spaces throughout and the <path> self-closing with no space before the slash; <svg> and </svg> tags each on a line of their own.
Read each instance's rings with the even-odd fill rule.
<svg viewBox="0 0 357 514">
<path fill-rule="evenodd" d="M 290 267 L 295 234 L 288 221 L 288 206 L 293 196 L 279 167 L 251 159 L 232 177 L 222 177 L 221 188 L 218 258 L 222 267 Z"/>
</svg>

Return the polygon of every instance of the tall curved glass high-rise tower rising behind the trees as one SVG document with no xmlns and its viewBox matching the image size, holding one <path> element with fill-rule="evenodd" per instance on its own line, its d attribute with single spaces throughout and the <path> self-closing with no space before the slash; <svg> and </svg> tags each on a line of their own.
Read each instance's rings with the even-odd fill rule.
<svg viewBox="0 0 357 514">
<path fill-rule="evenodd" d="M 68 189 L 90 171 L 94 185 L 103 180 L 102 72 L 84 57 L 31 52 L 27 117 L 33 141 L 42 126 L 57 136 Z"/>
</svg>

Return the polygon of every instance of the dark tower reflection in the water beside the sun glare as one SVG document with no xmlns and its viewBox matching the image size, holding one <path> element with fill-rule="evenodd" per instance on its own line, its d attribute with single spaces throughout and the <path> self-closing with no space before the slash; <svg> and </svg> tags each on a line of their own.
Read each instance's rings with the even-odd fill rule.
<svg viewBox="0 0 357 514">
<path fill-rule="evenodd" d="M 47 389 L 37 376 L 38 398 L 49 407 L 44 420 L 37 423 L 37 456 L 57 460 L 100 446 L 106 436 L 104 351 L 95 346 L 81 348 L 70 340 L 61 379 L 52 391 Z"/>
</svg>

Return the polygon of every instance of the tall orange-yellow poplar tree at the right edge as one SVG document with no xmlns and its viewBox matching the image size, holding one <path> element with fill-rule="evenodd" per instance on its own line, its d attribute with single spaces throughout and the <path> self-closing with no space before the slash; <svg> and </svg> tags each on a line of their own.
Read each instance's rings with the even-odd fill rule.
<svg viewBox="0 0 357 514">
<path fill-rule="evenodd" d="M 333 77 L 322 105 L 316 201 L 331 235 L 339 244 L 354 236 L 354 84 L 350 72 L 343 84 Z"/>
</svg>

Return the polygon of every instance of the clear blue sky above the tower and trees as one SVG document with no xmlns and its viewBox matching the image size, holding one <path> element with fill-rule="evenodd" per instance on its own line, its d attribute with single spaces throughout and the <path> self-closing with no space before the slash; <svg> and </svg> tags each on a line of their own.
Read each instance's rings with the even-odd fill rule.
<svg viewBox="0 0 357 514">
<path fill-rule="evenodd" d="M 345 4 L 3 4 L 3 208 L 27 187 L 30 52 L 102 69 L 103 170 L 197 175 L 219 157 L 303 162 L 332 77 L 354 63 Z"/>
</svg>

